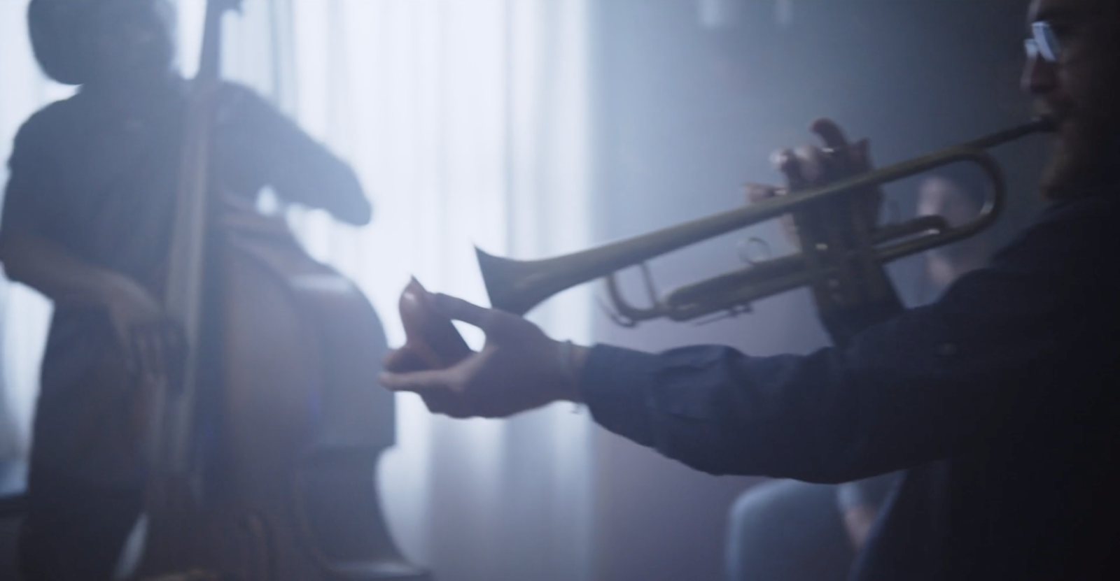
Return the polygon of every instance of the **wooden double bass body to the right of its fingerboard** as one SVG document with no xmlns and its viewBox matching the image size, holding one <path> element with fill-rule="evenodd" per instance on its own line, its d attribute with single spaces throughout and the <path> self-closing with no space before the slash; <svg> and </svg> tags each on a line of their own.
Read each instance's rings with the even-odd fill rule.
<svg viewBox="0 0 1120 581">
<path fill-rule="evenodd" d="M 282 222 L 227 216 L 220 237 L 213 510 L 234 535 L 225 547 L 239 547 L 222 569 L 254 581 L 427 579 L 401 559 L 376 495 L 394 413 L 375 388 L 386 345 L 373 308 Z"/>
</svg>

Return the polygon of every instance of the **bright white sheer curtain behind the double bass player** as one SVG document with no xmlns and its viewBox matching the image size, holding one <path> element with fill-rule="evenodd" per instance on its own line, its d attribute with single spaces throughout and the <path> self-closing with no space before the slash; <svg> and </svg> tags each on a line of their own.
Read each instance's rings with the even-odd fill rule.
<svg viewBox="0 0 1120 581">
<path fill-rule="evenodd" d="M 31 62 L 26 2 L 0 0 L 0 148 L 63 94 L 43 88 Z M 178 0 L 188 75 L 204 3 Z M 371 226 L 290 216 L 312 255 L 366 292 L 390 344 L 403 341 L 396 300 L 410 275 L 486 303 L 473 245 L 541 257 L 587 244 L 587 10 L 588 0 L 248 0 L 227 20 L 226 75 L 273 99 L 362 178 Z M 12 90 L 27 96 L 11 105 Z M 587 341 L 588 306 L 570 291 L 533 319 Z M 45 311 L 9 289 L 7 401 L 24 442 Z M 440 581 L 589 579 L 589 431 L 570 406 L 452 421 L 399 396 L 398 446 L 379 470 L 394 537 Z"/>
</svg>

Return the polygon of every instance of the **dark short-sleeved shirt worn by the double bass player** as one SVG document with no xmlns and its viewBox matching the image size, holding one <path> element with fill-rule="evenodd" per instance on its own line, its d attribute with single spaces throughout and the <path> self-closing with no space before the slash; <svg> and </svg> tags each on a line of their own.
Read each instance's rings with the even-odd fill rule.
<svg viewBox="0 0 1120 581">
<path fill-rule="evenodd" d="M 9 161 L 0 235 L 26 232 L 125 274 L 157 299 L 180 176 L 185 82 L 128 109 L 83 87 L 32 115 Z M 218 101 L 213 182 L 252 199 L 272 186 L 284 199 L 362 222 L 368 204 L 353 171 L 261 97 L 236 85 Z M 131 384 L 105 313 L 57 309 L 36 409 L 36 463 L 109 485 L 134 485 L 142 467 L 128 441 Z M 99 368 L 99 366 L 101 366 Z"/>
</svg>

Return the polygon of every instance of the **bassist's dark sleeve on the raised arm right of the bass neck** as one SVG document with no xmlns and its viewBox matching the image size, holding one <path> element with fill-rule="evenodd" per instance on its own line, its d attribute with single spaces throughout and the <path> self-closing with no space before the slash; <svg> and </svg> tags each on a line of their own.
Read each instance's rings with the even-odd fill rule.
<svg viewBox="0 0 1120 581">
<path fill-rule="evenodd" d="M 371 207 L 342 159 L 256 93 L 226 85 L 218 116 L 220 167 L 235 190 L 272 186 L 286 200 L 365 224 Z"/>
</svg>

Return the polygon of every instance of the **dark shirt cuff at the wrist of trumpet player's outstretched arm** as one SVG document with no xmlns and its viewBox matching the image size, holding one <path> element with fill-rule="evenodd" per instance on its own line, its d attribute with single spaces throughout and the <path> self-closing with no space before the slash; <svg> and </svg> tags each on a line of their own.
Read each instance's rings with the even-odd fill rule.
<svg viewBox="0 0 1120 581">
<path fill-rule="evenodd" d="M 596 345 L 580 372 L 584 403 L 595 421 L 618 435 L 643 446 L 653 444 L 646 387 L 657 367 L 657 356 Z"/>
</svg>

